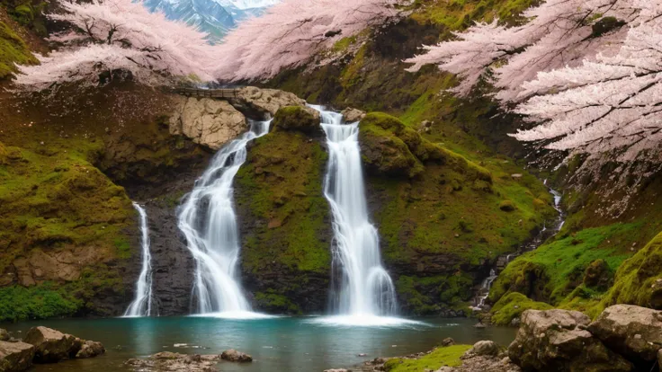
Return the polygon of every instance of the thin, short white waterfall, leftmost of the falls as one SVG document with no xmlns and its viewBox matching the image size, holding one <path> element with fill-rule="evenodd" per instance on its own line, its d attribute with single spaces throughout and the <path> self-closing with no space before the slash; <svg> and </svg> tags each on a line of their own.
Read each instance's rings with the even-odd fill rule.
<svg viewBox="0 0 662 372">
<path fill-rule="evenodd" d="M 142 269 L 136 283 L 136 297 L 124 316 L 149 316 L 152 314 L 152 254 L 149 252 L 148 213 L 138 203 L 133 203 L 140 217 L 140 245 L 142 246 Z"/>
</svg>

